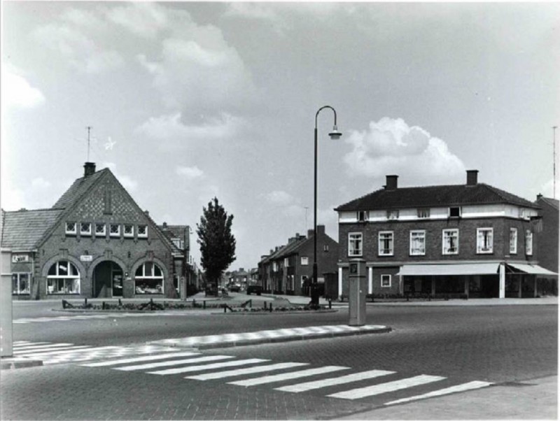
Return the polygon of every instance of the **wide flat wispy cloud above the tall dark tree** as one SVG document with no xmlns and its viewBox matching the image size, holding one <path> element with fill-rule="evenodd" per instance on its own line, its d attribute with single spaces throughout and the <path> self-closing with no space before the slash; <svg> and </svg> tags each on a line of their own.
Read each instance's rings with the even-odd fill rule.
<svg viewBox="0 0 560 421">
<path fill-rule="evenodd" d="M 212 140 L 235 136 L 244 120 L 222 113 L 220 118 L 209 118 L 202 124 L 184 124 L 181 113 L 150 117 L 137 127 L 137 133 L 146 134 L 158 140 L 181 141 L 186 144 L 189 140 Z"/>
</svg>

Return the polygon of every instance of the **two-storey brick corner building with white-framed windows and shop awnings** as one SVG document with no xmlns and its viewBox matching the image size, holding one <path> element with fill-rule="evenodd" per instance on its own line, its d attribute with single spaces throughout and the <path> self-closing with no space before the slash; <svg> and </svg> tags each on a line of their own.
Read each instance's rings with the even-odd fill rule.
<svg viewBox="0 0 560 421">
<path fill-rule="evenodd" d="M 555 273 L 538 265 L 547 252 L 533 235 L 540 208 L 477 174 L 467 171 L 465 185 L 404 188 L 386 176 L 381 190 L 336 208 L 338 293 L 348 293 L 349 262 L 361 259 L 369 294 L 535 295 L 536 277 Z"/>
</svg>

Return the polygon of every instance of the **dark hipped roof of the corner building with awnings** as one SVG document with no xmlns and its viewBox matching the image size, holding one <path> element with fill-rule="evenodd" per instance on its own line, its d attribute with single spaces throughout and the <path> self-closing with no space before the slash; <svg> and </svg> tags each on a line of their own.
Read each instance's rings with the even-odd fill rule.
<svg viewBox="0 0 560 421">
<path fill-rule="evenodd" d="M 439 185 L 381 189 L 338 206 L 335 211 L 375 211 L 397 208 L 428 208 L 478 204 L 512 204 L 526 208 L 537 205 L 491 185 Z"/>
</svg>

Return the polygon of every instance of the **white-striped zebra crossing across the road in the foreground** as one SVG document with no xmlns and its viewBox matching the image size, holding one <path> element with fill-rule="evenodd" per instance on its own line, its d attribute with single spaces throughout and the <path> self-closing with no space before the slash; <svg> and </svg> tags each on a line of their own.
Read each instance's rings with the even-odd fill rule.
<svg viewBox="0 0 560 421">
<path fill-rule="evenodd" d="M 407 377 L 397 371 L 358 371 L 349 366 L 311 366 L 307 362 L 274 362 L 232 355 L 204 355 L 199 350 L 170 348 L 153 355 L 78 362 L 78 366 L 137 372 L 158 376 L 181 375 L 187 381 L 221 381 L 237 387 L 271 387 L 289 393 L 314 392 L 335 399 L 381 399 L 380 405 L 403 404 L 419 399 L 489 387 L 493 383 L 458 383 L 443 376 Z M 341 375 L 342 374 L 342 375 Z M 403 396 L 403 393 L 405 396 Z"/>
</svg>

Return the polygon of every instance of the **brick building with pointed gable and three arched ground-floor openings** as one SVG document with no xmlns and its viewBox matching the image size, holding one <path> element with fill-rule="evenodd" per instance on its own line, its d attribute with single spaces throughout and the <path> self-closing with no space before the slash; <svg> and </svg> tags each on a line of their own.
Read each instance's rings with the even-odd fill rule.
<svg viewBox="0 0 560 421">
<path fill-rule="evenodd" d="M 52 208 L 1 215 L 19 299 L 177 297 L 186 292 L 188 227 L 158 227 L 110 169 L 84 175 Z"/>
</svg>

